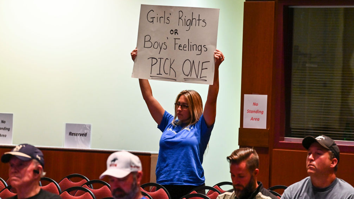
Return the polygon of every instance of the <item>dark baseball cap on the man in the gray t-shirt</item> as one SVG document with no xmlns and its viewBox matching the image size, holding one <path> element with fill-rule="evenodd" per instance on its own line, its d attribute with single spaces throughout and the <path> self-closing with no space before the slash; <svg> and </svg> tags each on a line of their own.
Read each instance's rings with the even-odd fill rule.
<svg viewBox="0 0 354 199">
<path fill-rule="evenodd" d="M 330 137 L 325 135 L 320 135 L 317 136 L 316 138 L 312 136 L 306 136 L 302 140 L 302 146 L 304 146 L 306 149 L 309 149 L 311 144 L 314 142 L 318 142 L 322 147 L 330 150 L 333 153 L 333 155 L 337 158 L 339 163 L 339 148 L 334 140 L 332 140 Z"/>
</svg>

